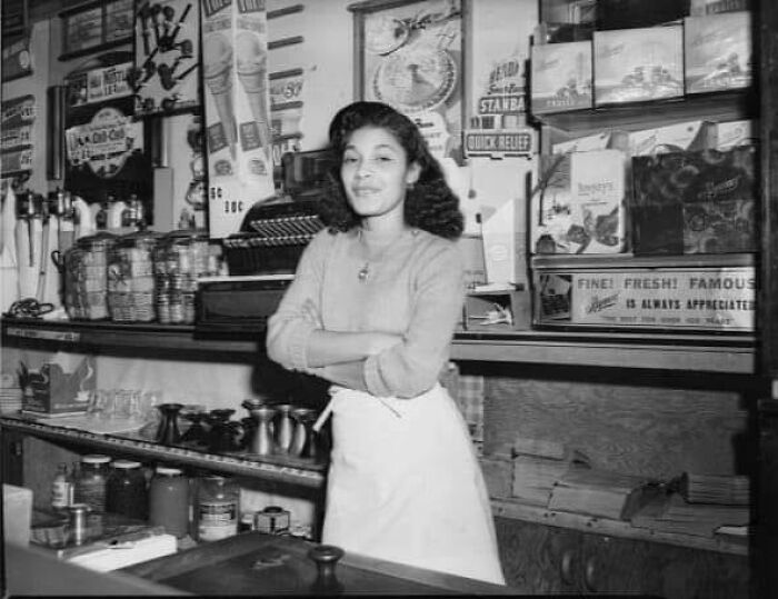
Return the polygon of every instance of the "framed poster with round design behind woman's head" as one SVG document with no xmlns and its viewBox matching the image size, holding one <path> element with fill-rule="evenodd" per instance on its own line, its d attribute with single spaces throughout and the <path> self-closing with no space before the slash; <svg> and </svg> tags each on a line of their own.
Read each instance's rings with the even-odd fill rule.
<svg viewBox="0 0 778 599">
<path fill-rule="evenodd" d="M 462 158 L 462 40 L 468 0 L 370 0 L 355 17 L 355 92 L 421 129 L 438 158 Z"/>
</svg>

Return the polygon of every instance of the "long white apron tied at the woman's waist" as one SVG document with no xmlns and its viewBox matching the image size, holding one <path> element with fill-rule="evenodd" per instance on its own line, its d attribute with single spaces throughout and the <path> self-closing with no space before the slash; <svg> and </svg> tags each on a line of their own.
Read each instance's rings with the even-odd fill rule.
<svg viewBox="0 0 778 599">
<path fill-rule="evenodd" d="M 322 542 L 505 585 L 483 476 L 448 392 L 331 392 Z"/>
</svg>

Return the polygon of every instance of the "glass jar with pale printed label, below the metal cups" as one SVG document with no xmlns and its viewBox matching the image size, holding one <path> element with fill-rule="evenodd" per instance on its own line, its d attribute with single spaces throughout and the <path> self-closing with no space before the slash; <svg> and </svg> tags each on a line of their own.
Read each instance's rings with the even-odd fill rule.
<svg viewBox="0 0 778 599">
<path fill-rule="evenodd" d="M 198 485 L 198 540 L 218 541 L 238 533 L 240 490 L 225 477 L 206 477 Z"/>
</svg>

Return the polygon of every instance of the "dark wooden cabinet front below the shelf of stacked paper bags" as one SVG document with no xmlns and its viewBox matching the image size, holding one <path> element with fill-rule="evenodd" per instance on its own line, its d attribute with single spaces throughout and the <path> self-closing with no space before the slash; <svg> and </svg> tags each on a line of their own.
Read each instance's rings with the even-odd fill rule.
<svg viewBox="0 0 778 599">
<path fill-rule="evenodd" d="M 532 592 L 748 599 L 748 558 L 496 518 L 509 585 Z"/>
</svg>

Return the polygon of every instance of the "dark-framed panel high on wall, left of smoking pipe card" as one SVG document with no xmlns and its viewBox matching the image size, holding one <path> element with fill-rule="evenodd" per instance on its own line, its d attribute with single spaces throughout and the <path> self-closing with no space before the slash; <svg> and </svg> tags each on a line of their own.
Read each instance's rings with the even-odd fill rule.
<svg viewBox="0 0 778 599">
<path fill-rule="evenodd" d="M 59 13 L 62 54 L 68 60 L 132 42 L 134 0 L 97 0 Z"/>
</svg>

